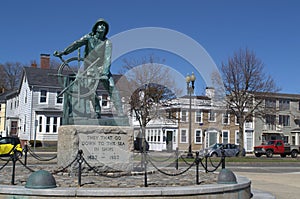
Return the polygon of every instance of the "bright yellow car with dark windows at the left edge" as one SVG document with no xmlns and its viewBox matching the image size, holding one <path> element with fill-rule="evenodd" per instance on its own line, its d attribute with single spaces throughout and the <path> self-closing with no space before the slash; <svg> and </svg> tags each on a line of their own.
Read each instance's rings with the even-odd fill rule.
<svg viewBox="0 0 300 199">
<path fill-rule="evenodd" d="M 18 137 L 1 137 L 0 138 L 0 157 L 8 157 L 14 154 L 18 157 L 23 155 L 21 143 Z"/>
</svg>

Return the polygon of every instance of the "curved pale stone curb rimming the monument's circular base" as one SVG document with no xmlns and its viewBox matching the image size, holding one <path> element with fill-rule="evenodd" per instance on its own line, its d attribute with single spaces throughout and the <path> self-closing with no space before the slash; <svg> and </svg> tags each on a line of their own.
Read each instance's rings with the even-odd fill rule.
<svg viewBox="0 0 300 199">
<path fill-rule="evenodd" d="M 0 198 L 6 196 L 36 197 L 178 197 L 195 195 L 220 195 L 250 189 L 251 182 L 246 177 L 237 177 L 237 184 L 193 185 L 182 187 L 141 187 L 141 188 L 52 188 L 28 189 L 23 186 L 0 185 Z M 224 195 L 225 194 L 225 195 Z M 216 197 L 213 197 L 216 198 Z M 218 198 L 218 197 L 217 197 Z"/>
</svg>

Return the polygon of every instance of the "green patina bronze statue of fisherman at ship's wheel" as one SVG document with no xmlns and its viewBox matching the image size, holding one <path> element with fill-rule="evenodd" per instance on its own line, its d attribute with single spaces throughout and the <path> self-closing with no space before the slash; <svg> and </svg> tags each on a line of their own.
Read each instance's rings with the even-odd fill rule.
<svg viewBox="0 0 300 199">
<path fill-rule="evenodd" d="M 113 120 L 101 119 L 101 106 L 96 90 L 101 82 L 108 91 L 118 116 L 123 115 L 122 103 L 119 92 L 115 89 L 115 83 L 110 72 L 112 43 L 106 37 L 109 25 L 104 19 L 96 21 L 92 31 L 79 40 L 74 41 L 63 51 L 55 51 L 54 56 L 59 57 L 63 64 L 59 68 L 59 78 L 64 86 L 59 95 L 64 95 L 63 124 L 84 123 L 82 119 L 94 119 L 86 121 L 87 124 L 113 124 Z M 84 58 L 80 57 L 80 48 L 84 47 Z M 63 55 L 68 55 L 78 49 L 78 57 L 63 60 Z M 76 70 L 71 67 L 71 62 L 77 61 L 83 64 Z M 74 64 L 74 63 L 73 63 Z M 83 69 L 82 69 L 83 68 Z"/>
</svg>

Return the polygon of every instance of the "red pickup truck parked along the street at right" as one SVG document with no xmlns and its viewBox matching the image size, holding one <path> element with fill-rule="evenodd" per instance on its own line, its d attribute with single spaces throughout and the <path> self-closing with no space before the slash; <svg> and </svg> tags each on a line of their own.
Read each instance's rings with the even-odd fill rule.
<svg viewBox="0 0 300 199">
<path fill-rule="evenodd" d="M 256 157 L 266 155 L 268 158 L 273 157 L 273 154 L 280 154 L 281 157 L 290 155 L 296 158 L 299 153 L 299 146 L 284 144 L 282 140 L 271 140 L 266 145 L 254 147 L 254 154 Z"/>
</svg>

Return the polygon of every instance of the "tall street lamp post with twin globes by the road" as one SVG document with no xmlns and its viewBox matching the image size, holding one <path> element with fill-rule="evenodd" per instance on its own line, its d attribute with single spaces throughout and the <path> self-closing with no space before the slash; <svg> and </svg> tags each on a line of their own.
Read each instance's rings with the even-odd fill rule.
<svg viewBox="0 0 300 199">
<path fill-rule="evenodd" d="M 189 107 L 189 151 L 187 154 L 188 158 L 193 158 L 192 153 L 192 94 L 194 93 L 195 89 L 195 80 L 196 77 L 194 73 L 192 75 L 186 76 L 186 83 L 187 83 L 187 93 L 190 97 L 190 107 Z M 191 83 L 191 85 L 190 85 Z"/>
</svg>

